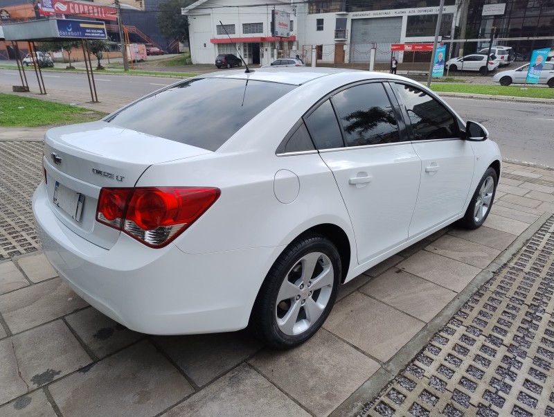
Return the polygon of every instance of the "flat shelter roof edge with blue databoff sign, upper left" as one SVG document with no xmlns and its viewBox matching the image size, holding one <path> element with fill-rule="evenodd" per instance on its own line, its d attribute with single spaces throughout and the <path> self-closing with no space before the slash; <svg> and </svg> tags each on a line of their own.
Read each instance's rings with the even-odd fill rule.
<svg viewBox="0 0 554 417">
<path fill-rule="evenodd" d="M 55 41 L 62 39 L 107 39 L 103 21 L 39 19 L 2 26 L 10 41 Z"/>
</svg>

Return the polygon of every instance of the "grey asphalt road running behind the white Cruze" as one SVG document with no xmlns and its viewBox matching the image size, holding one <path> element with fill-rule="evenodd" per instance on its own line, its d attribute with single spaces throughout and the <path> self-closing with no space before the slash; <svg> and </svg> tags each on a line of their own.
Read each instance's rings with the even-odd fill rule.
<svg viewBox="0 0 554 417">
<path fill-rule="evenodd" d="M 20 85 L 17 71 L 0 71 L 0 84 Z M 33 71 L 27 71 L 31 89 L 37 89 Z M 74 94 L 90 94 L 84 73 L 43 73 L 46 90 L 60 89 Z M 139 98 L 177 78 L 118 76 L 96 74 L 98 96 Z M 71 100 L 71 98 L 70 98 Z M 447 98 L 448 103 L 465 119 L 483 123 L 490 137 L 499 143 L 504 158 L 554 167 L 554 105 L 508 103 L 490 100 Z"/>
</svg>

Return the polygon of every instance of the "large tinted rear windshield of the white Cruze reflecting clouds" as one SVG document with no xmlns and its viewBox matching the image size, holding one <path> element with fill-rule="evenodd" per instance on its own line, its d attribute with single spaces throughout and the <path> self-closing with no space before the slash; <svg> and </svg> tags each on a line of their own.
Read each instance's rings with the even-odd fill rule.
<svg viewBox="0 0 554 417">
<path fill-rule="evenodd" d="M 295 87 L 276 82 L 193 78 L 147 96 L 107 121 L 217 150 L 256 114 Z"/>
</svg>

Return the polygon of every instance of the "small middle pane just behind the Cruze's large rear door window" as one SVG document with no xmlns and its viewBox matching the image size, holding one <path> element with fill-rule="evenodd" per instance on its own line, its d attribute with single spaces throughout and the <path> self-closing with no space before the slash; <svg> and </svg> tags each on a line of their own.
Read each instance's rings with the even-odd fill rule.
<svg viewBox="0 0 554 417">
<path fill-rule="evenodd" d="M 306 119 L 310 135 L 318 149 L 342 148 L 342 134 L 337 117 L 329 100 L 319 106 Z"/>
</svg>

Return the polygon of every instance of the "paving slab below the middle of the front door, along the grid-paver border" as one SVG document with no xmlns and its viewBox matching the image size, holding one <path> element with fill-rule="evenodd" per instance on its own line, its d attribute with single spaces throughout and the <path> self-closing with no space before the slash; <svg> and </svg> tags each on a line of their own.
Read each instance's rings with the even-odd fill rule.
<svg viewBox="0 0 554 417">
<path fill-rule="evenodd" d="M 418 252 L 397 267 L 456 292 L 463 290 L 481 272 L 472 265 L 428 251 Z"/>
</svg>

